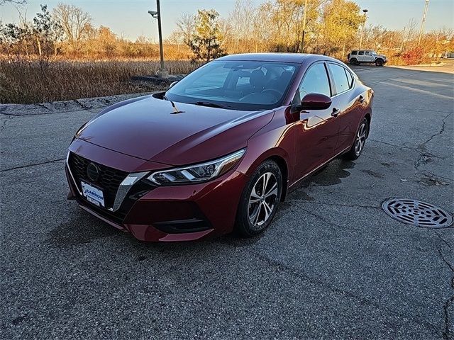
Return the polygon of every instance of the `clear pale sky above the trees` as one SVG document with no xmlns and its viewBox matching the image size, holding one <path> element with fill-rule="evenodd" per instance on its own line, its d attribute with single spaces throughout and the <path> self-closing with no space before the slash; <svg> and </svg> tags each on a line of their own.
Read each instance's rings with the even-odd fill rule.
<svg viewBox="0 0 454 340">
<path fill-rule="evenodd" d="M 253 0 L 260 4 L 262 0 Z M 367 8 L 367 25 L 382 25 L 388 29 L 402 29 L 411 18 L 421 22 L 425 0 L 356 0 L 361 8 Z M 74 4 L 91 14 L 95 26 L 108 26 L 114 33 L 134 40 L 145 35 L 157 40 L 157 23 L 147 13 L 155 10 L 155 0 L 28 0 L 22 8 L 29 19 L 40 10 L 39 4 L 52 8 L 59 2 Z M 195 13 L 198 8 L 214 8 L 227 17 L 235 0 L 161 0 L 163 35 L 169 35 L 175 29 L 179 16 Z M 18 13 L 11 5 L 0 6 L 0 20 L 4 23 L 17 22 Z M 426 30 L 454 28 L 454 1 L 430 0 L 426 21 Z"/>
</svg>

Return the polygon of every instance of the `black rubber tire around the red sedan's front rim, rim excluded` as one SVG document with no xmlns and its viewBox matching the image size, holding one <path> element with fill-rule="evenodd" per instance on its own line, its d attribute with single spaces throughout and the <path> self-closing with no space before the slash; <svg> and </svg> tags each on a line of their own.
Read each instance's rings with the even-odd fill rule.
<svg viewBox="0 0 454 340">
<path fill-rule="evenodd" d="M 252 223 L 249 220 L 249 198 L 250 193 L 253 190 L 253 186 L 258 181 L 262 174 L 265 172 L 272 172 L 276 176 L 277 180 L 277 200 L 275 203 L 275 208 L 271 212 L 270 218 L 265 222 L 260 229 L 253 227 Z M 245 237 L 252 237 L 261 232 L 265 231 L 267 227 L 272 222 L 273 217 L 275 217 L 277 209 L 279 208 L 280 198 L 282 196 L 282 172 L 276 162 L 272 160 L 267 160 L 260 164 L 257 169 L 255 169 L 248 183 L 246 183 L 243 193 L 241 194 L 240 203 L 238 203 L 238 210 L 236 214 L 236 230 Z"/>
</svg>

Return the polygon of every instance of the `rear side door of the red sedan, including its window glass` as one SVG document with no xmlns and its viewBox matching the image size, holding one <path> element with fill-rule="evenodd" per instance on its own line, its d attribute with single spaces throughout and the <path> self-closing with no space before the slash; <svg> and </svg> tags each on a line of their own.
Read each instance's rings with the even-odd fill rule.
<svg viewBox="0 0 454 340">
<path fill-rule="evenodd" d="M 355 89 L 355 78 L 346 67 L 336 62 L 328 62 L 328 69 L 333 80 L 334 97 L 338 103 L 340 122 L 338 142 L 335 153 L 342 152 L 353 144 L 358 124 L 362 118 L 360 91 Z"/>
</svg>

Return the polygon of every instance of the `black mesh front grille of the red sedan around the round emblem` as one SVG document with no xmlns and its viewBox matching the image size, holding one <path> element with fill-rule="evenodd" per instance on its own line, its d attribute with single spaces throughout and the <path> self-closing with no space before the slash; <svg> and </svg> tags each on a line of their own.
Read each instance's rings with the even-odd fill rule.
<svg viewBox="0 0 454 340">
<path fill-rule="evenodd" d="M 87 175 L 87 167 L 90 163 L 96 164 L 99 169 L 99 176 L 96 181 L 92 181 Z M 78 154 L 74 154 L 73 152 L 70 152 L 68 164 L 70 166 L 72 176 L 74 176 L 74 180 L 76 181 L 74 184 L 80 191 L 82 191 L 82 184 L 80 181 L 98 186 L 104 193 L 104 204 L 106 205 L 106 208 L 112 208 L 114 206 L 116 192 L 118 191 L 118 187 L 123 179 L 126 179 L 126 176 L 128 176 L 127 172 L 92 162 L 89 159 L 79 156 Z"/>
</svg>

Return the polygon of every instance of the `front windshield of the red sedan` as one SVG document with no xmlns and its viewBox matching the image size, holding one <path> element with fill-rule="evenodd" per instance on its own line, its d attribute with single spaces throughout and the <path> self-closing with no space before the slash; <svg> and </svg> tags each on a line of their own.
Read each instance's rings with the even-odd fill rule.
<svg viewBox="0 0 454 340">
<path fill-rule="evenodd" d="M 165 96 L 180 103 L 217 104 L 237 110 L 276 108 L 298 67 L 284 62 L 209 62 L 184 77 Z"/>
</svg>

